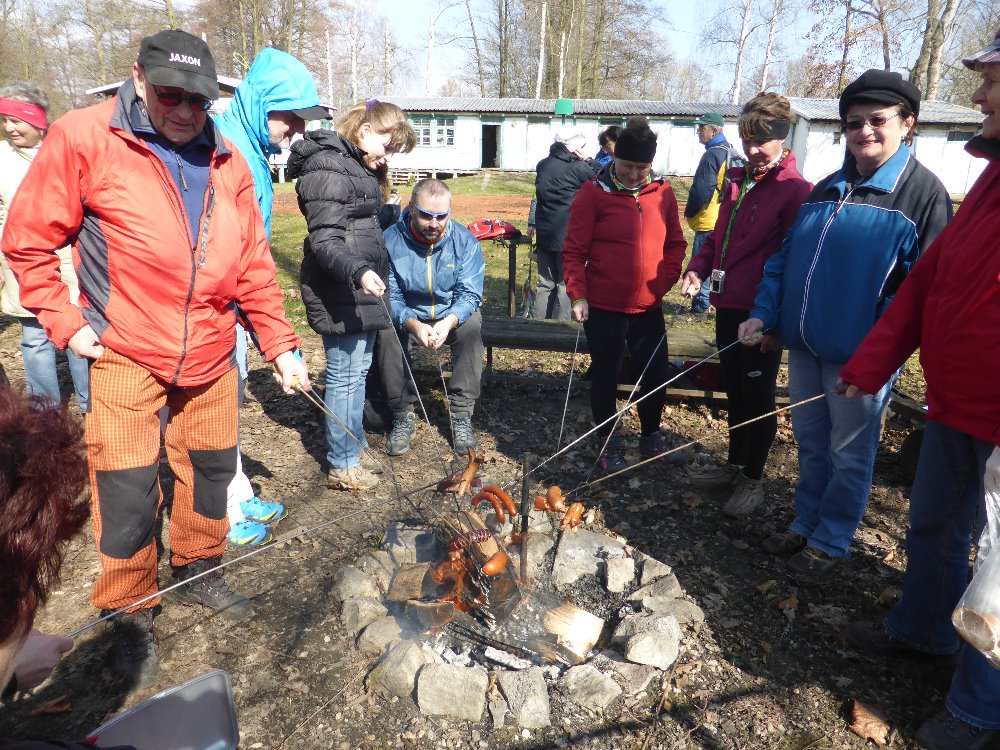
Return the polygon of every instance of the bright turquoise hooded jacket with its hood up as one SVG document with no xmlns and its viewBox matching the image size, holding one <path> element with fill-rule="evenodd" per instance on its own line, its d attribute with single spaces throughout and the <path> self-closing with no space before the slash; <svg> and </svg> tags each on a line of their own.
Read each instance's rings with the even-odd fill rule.
<svg viewBox="0 0 1000 750">
<path fill-rule="evenodd" d="M 229 109 L 215 121 L 250 165 L 257 204 L 264 227 L 271 236 L 274 186 L 267 157 L 278 153 L 271 146 L 268 112 L 287 112 L 319 105 L 319 94 L 306 66 L 287 52 L 268 47 L 253 61 L 246 78 L 236 88 Z"/>
</svg>

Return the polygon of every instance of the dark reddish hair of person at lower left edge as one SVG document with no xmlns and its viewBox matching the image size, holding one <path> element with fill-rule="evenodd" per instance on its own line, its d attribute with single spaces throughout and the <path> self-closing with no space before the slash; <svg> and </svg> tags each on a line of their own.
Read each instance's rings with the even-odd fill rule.
<svg viewBox="0 0 1000 750">
<path fill-rule="evenodd" d="M 83 426 L 0 385 L 0 643 L 31 626 L 90 515 Z"/>
</svg>

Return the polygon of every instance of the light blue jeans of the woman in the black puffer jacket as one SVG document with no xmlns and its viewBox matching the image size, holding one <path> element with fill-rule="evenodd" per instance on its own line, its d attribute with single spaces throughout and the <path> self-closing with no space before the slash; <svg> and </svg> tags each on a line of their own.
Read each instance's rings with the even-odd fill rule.
<svg viewBox="0 0 1000 750">
<path fill-rule="evenodd" d="M 326 349 L 326 393 L 323 400 L 351 432 L 348 434 L 337 422 L 326 418 L 326 460 L 333 469 L 349 469 L 360 463 L 361 446 L 358 441 L 368 447 L 362 420 L 365 377 L 372 364 L 375 333 L 323 334 L 323 347 Z"/>
</svg>

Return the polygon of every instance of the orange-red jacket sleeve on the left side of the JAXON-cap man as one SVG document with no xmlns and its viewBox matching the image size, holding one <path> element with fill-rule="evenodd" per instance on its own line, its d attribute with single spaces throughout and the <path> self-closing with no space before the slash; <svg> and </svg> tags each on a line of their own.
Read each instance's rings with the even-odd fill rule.
<svg viewBox="0 0 1000 750">
<path fill-rule="evenodd" d="M 87 174 L 69 132 L 54 123 L 11 201 L 3 231 L 3 254 L 17 277 L 21 304 L 60 349 L 87 324 L 70 300 L 56 255 L 83 223 Z"/>
</svg>

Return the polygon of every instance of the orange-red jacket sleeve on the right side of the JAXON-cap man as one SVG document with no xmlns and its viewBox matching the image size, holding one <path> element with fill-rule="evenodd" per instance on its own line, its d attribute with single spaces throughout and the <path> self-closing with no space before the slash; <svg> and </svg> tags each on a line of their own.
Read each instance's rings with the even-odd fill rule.
<svg viewBox="0 0 1000 750">
<path fill-rule="evenodd" d="M 249 167 L 240 160 L 246 174 L 236 196 L 239 215 L 248 218 L 243 229 L 243 251 L 236 299 L 257 332 L 264 358 L 271 362 L 279 354 L 299 346 L 299 337 L 285 317 L 284 295 L 278 285 L 277 269 L 264 230 L 264 219 L 254 193 Z"/>
</svg>

